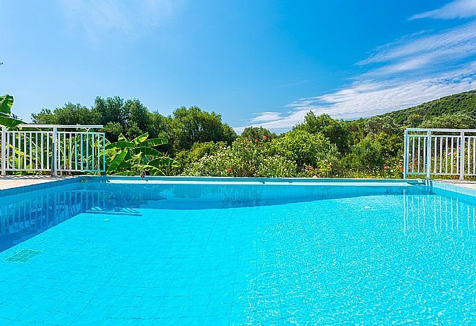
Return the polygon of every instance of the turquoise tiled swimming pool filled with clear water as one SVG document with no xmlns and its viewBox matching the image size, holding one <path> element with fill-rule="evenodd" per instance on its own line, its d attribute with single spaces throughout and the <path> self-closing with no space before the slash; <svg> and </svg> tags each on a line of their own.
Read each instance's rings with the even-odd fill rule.
<svg viewBox="0 0 476 326">
<path fill-rule="evenodd" d="M 10 193 L 0 324 L 471 323 L 475 204 L 369 180 L 87 178 Z"/>
</svg>

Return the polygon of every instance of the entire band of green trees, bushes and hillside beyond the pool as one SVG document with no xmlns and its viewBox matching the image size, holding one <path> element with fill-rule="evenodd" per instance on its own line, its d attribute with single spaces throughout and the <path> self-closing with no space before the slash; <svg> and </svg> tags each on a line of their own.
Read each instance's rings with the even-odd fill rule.
<svg viewBox="0 0 476 326">
<path fill-rule="evenodd" d="M 144 133 L 164 138 L 168 142 L 161 151 L 176 162 L 163 170 L 168 175 L 401 178 L 404 128 L 473 128 L 475 103 L 471 91 L 352 121 L 310 111 L 281 135 L 263 127 L 237 135 L 221 115 L 197 106 L 165 116 L 148 111 L 138 99 L 121 97 L 97 97 L 90 108 L 72 103 L 43 108 L 32 114 L 32 122 L 102 124 L 110 142 Z"/>
</svg>

